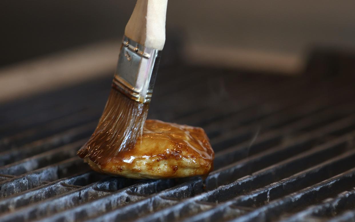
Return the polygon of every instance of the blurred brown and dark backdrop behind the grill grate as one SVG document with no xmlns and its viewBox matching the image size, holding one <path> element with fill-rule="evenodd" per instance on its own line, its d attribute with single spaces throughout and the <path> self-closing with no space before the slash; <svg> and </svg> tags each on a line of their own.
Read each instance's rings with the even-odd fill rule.
<svg viewBox="0 0 355 222">
<path fill-rule="evenodd" d="M 5 101 L 24 91 L 113 73 L 135 1 L 0 4 L 0 101 Z M 351 57 L 355 51 L 354 9 L 353 0 L 169 1 L 169 56 L 163 56 L 162 66 L 184 63 L 294 75 L 304 72 L 315 55 L 329 65 L 329 57 L 334 63 L 335 54 Z"/>
</svg>

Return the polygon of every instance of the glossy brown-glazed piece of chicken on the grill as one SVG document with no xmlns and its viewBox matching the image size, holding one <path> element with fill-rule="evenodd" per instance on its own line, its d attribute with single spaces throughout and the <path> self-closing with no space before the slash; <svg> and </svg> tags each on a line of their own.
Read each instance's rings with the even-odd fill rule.
<svg viewBox="0 0 355 222">
<path fill-rule="evenodd" d="M 85 152 L 80 157 L 111 176 L 161 179 L 206 176 L 213 169 L 214 152 L 202 128 L 147 120 L 132 149 L 108 161 L 96 161 Z"/>
</svg>

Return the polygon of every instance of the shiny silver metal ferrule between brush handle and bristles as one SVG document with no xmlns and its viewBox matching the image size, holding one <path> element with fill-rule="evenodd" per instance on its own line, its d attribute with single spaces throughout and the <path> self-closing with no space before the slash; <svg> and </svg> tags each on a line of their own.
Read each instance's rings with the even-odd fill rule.
<svg viewBox="0 0 355 222">
<path fill-rule="evenodd" d="M 137 102 L 150 102 L 160 54 L 124 36 L 113 87 Z"/>
</svg>

